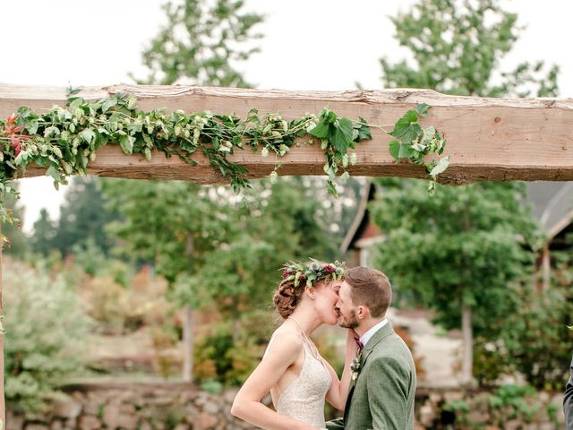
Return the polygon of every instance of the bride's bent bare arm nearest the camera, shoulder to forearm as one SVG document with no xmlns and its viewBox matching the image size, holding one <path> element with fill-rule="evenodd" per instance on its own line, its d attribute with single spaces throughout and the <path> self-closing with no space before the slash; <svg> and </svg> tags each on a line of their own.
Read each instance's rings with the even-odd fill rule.
<svg viewBox="0 0 573 430">
<path fill-rule="evenodd" d="M 302 350 L 301 338 L 295 332 L 276 333 L 261 363 L 237 393 L 231 414 L 267 430 L 316 430 L 309 424 L 279 415 L 261 403 L 261 399 L 285 374 L 286 369 L 295 363 Z"/>
</svg>

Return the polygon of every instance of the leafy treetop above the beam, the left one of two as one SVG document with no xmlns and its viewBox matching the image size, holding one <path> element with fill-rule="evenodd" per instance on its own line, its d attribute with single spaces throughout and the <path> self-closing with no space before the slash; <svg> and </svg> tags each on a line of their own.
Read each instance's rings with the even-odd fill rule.
<svg viewBox="0 0 573 430">
<path fill-rule="evenodd" d="M 140 83 L 251 86 L 237 65 L 258 51 L 253 41 L 261 34 L 254 27 L 261 15 L 244 12 L 242 0 L 184 0 L 163 8 L 167 25 L 143 51 L 150 72 Z"/>
</svg>

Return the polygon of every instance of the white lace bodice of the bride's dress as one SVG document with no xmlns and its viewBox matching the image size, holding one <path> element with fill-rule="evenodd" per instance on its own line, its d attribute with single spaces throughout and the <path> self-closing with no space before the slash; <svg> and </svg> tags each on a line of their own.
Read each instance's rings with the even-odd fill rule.
<svg viewBox="0 0 573 430">
<path fill-rule="evenodd" d="M 304 365 L 298 378 L 280 393 L 275 409 L 281 415 L 293 417 L 321 429 L 324 422 L 324 400 L 332 383 L 329 370 L 312 357 L 307 342 L 304 345 Z"/>
</svg>

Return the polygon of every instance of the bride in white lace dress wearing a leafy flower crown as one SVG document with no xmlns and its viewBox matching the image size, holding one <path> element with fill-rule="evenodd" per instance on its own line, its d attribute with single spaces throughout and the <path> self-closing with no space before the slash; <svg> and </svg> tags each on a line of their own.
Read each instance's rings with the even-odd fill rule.
<svg viewBox="0 0 573 430">
<path fill-rule="evenodd" d="M 335 305 L 342 283 L 341 263 L 290 263 L 273 302 L 285 321 L 272 334 L 269 346 L 237 393 L 231 414 L 269 430 L 326 429 L 324 400 L 344 410 L 350 385 L 350 364 L 356 353 L 355 333 L 346 336 L 342 377 L 321 357 L 311 334 L 322 324 L 338 321 Z M 261 403 L 270 391 L 276 412 Z"/>
</svg>

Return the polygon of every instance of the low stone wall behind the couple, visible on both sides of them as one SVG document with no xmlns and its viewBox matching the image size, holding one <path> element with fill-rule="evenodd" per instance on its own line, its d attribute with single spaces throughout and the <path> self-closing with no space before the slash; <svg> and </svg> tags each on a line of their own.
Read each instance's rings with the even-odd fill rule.
<svg viewBox="0 0 573 430">
<path fill-rule="evenodd" d="M 236 390 L 219 394 L 198 391 L 187 384 L 83 384 L 65 387 L 64 397 L 52 404 L 42 416 L 23 417 L 7 411 L 8 430 L 242 430 L 255 427 L 231 417 L 229 412 Z M 560 394 L 540 393 L 524 400 L 537 412 L 524 422 L 523 414 L 510 418 L 509 409 L 493 410 L 490 392 L 423 389 L 416 391 L 416 430 L 440 428 L 485 428 L 495 419 L 504 426 L 487 426 L 522 430 L 557 430 L 563 428 Z M 269 401 L 266 398 L 266 401 Z M 529 402 L 529 403 L 527 403 Z M 444 410 L 445 404 L 466 408 L 456 414 Z M 557 411 L 560 424 L 548 416 L 547 407 Z M 463 409 L 463 408 L 462 408 Z M 531 408 L 528 410 L 532 410 Z M 507 418 L 503 414 L 507 415 Z M 456 417 L 456 415 L 458 415 Z M 465 422 L 464 422 L 465 421 Z M 554 419 L 553 419 L 554 421 Z"/>
</svg>

